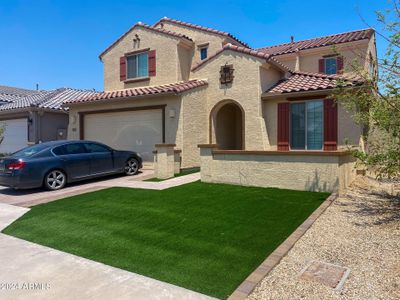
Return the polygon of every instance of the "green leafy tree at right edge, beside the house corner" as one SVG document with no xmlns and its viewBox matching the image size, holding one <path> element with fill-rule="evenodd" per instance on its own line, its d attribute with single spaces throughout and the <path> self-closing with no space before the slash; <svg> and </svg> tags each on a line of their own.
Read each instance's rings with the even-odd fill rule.
<svg viewBox="0 0 400 300">
<path fill-rule="evenodd" d="M 354 155 L 378 177 L 400 175 L 400 0 L 391 4 L 390 9 L 376 12 L 376 34 L 388 43 L 383 58 L 367 57 L 366 63 L 365 58 L 356 59 L 350 71 L 365 85 L 348 89 L 339 83 L 335 93 L 337 101 L 365 128 L 365 147 L 354 150 Z"/>
</svg>

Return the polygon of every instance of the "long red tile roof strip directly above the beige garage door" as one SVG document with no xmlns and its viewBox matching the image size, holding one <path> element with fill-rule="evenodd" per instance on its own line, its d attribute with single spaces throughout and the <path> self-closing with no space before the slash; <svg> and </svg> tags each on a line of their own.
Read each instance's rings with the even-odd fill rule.
<svg viewBox="0 0 400 300">
<path fill-rule="evenodd" d="M 101 100 L 112 100 L 121 98 L 134 98 L 149 95 L 159 94 L 180 94 L 191 89 L 207 85 L 206 80 L 193 79 L 189 81 L 181 81 L 171 84 L 163 84 L 158 86 L 138 87 L 132 89 L 109 91 L 102 93 L 95 93 L 89 96 L 83 96 L 76 99 L 66 101 L 66 104 L 85 103 Z"/>
</svg>

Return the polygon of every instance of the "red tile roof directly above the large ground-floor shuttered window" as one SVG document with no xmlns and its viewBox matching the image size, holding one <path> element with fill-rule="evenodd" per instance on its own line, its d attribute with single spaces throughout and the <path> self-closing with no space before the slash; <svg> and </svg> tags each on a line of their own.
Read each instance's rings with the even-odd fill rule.
<svg viewBox="0 0 400 300">
<path fill-rule="evenodd" d="M 346 78 L 340 75 L 324 75 L 306 72 L 293 72 L 287 79 L 280 80 L 266 91 L 267 94 L 286 94 L 293 92 L 328 90 L 337 87 L 340 81 L 346 86 L 360 86 L 364 83 L 361 79 Z"/>
</svg>

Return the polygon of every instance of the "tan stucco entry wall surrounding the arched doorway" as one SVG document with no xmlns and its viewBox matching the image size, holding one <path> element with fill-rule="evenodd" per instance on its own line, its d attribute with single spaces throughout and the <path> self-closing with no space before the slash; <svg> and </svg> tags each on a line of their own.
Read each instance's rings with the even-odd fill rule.
<svg viewBox="0 0 400 300">
<path fill-rule="evenodd" d="M 227 86 L 219 82 L 220 68 L 226 63 L 232 64 L 235 69 L 233 83 Z M 233 100 L 241 105 L 245 114 L 245 149 L 247 150 L 263 150 L 268 143 L 262 116 L 261 93 L 263 87 L 276 82 L 279 72 L 272 67 L 260 71 L 261 67 L 267 67 L 265 60 L 233 51 L 224 51 L 192 73 L 194 78 L 208 79 L 206 94 L 208 117 L 214 106 L 223 100 Z M 214 129 L 214 122 L 212 122 L 212 140 L 208 141 L 210 143 L 215 142 Z"/>
</svg>

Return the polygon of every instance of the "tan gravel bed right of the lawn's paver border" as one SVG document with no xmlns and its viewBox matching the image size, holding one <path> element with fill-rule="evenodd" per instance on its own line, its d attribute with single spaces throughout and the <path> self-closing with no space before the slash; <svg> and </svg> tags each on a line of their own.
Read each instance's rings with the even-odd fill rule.
<svg viewBox="0 0 400 300">
<path fill-rule="evenodd" d="M 400 183 L 358 178 L 249 299 L 400 299 Z M 340 292 L 299 277 L 317 260 L 350 268 Z"/>
</svg>

